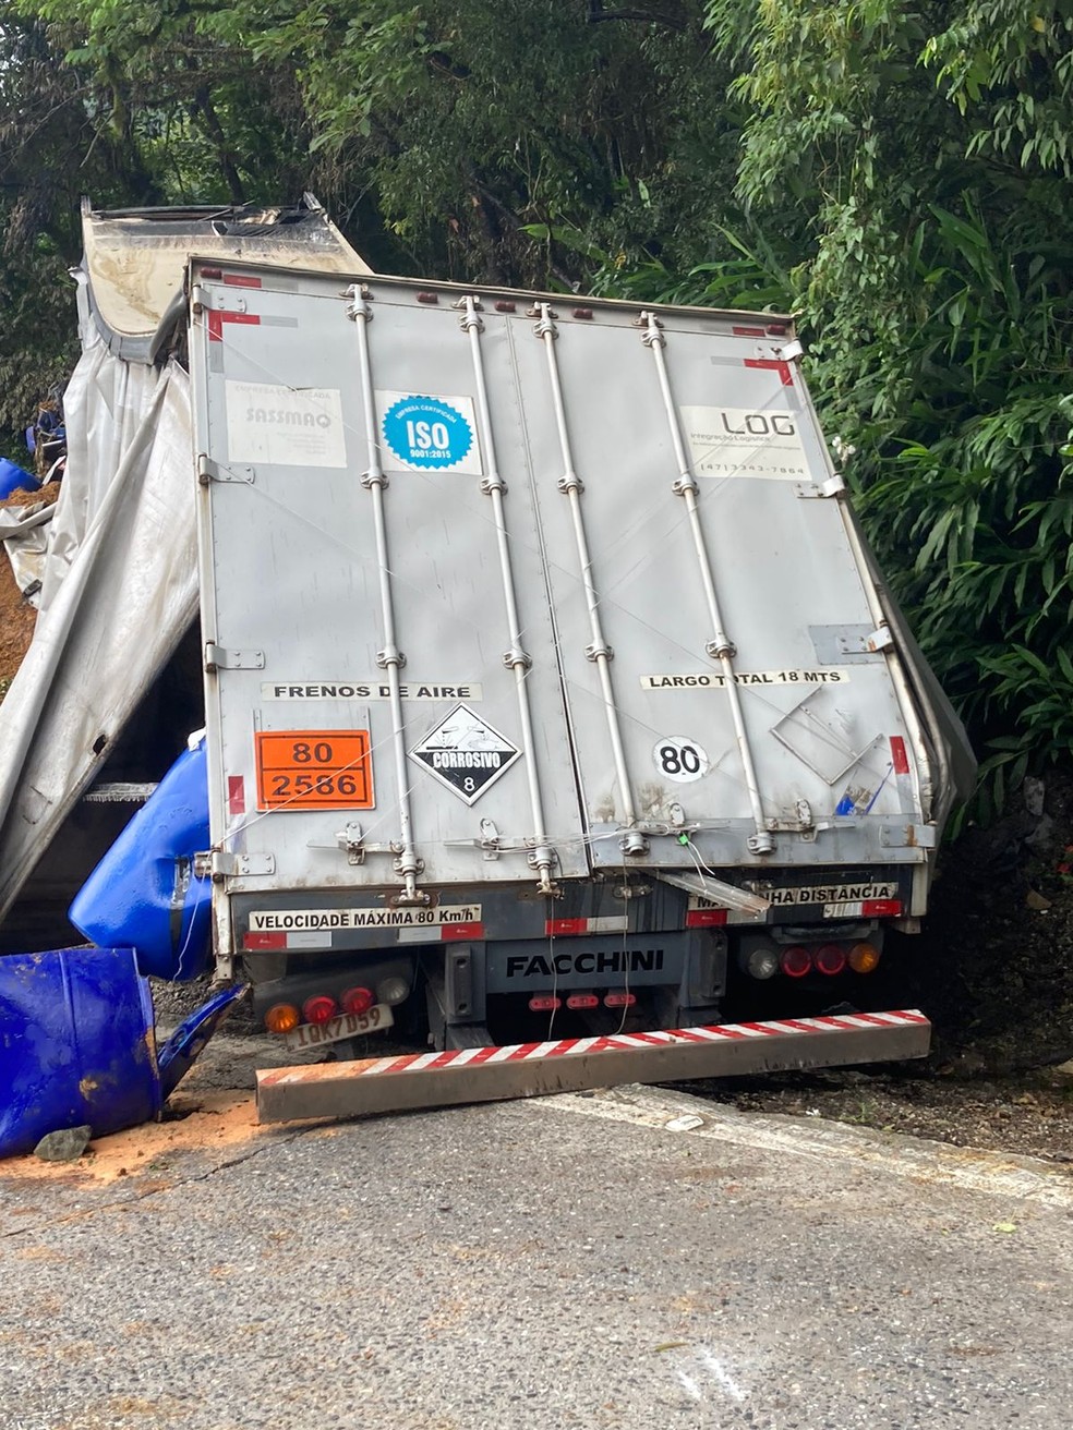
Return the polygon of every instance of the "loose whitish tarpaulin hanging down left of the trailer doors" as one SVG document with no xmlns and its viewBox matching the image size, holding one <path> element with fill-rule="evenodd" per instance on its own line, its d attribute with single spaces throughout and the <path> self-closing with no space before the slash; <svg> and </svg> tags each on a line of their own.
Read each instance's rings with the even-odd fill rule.
<svg viewBox="0 0 1073 1430">
<path fill-rule="evenodd" d="M 0 705 L 0 918 L 197 609 L 189 378 L 83 340 L 41 608 Z"/>
</svg>

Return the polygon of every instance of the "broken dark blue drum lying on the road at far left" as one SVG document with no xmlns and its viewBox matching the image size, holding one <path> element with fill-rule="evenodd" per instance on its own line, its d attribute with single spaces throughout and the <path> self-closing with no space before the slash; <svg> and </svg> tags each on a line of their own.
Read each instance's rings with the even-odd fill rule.
<svg viewBox="0 0 1073 1430">
<path fill-rule="evenodd" d="M 114 1133 L 160 1105 L 153 1004 L 130 948 L 0 957 L 0 1157 L 67 1127 Z"/>
</svg>

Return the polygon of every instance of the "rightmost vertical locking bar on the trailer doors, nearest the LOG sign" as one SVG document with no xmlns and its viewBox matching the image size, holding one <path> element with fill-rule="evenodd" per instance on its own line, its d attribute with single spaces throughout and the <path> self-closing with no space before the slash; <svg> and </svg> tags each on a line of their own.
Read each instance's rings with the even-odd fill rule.
<svg viewBox="0 0 1073 1430">
<path fill-rule="evenodd" d="M 734 644 L 727 635 L 722 626 L 722 613 L 720 612 L 720 601 L 715 592 L 715 575 L 711 568 L 711 558 L 708 556 L 708 548 L 704 542 L 704 531 L 701 528 L 701 515 L 697 505 L 697 495 L 700 488 L 697 485 L 697 478 L 692 475 L 692 468 L 685 455 L 685 443 L 682 442 L 682 430 L 678 423 L 678 409 L 674 405 L 674 396 L 671 395 L 671 379 L 667 372 L 667 358 L 664 355 L 664 347 L 667 346 L 667 339 L 664 337 L 660 322 L 655 313 L 642 312 L 641 326 L 644 332 L 641 333 L 641 340 L 645 347 L 650 347 L 652 356 L 655 358 L 655 370 L 660 379 L 660 392 L 662 393 L 664 408 L 667 410 L 667 422 L 671 429 L 671 440 L 674 443 L 674 455 L 678 462 L 678 479 L 674 482 L 672 490 L 677 496 L 681 496 L 685 502 L 685 511 L 690 516 L 690 533 L 692 535 L 694 551 L 697 552 L 697 566 L 701 575 L 701 583 L 704 586 L 704 599 L 708 605 L 708 619 L 711 621 L 711 628 L 714 638 L 707 644 L 707 652 L 710 656 L 720 662 L 722 668 L 722 688 L 727 692 L 727 702 L 730 705 L 731 721 L 734 722 L 734 736 L 738 744 L 738 754 L 741 756 L 741 768 L 745 775 L 745 788 L 748 789 L 748 802 L 753 809 L 753 824 L 755 827 L 755 834 L 750 835 L 748 847 L 753 854 L 771 854 L 775 847 L 775 841 L 771 837 L 771 831 L 767 827 L 767 818 L 764 817 L 764 801 L 760 795 L 760 782 L 757 779 L 757 766 L 753 759 L 753 749 L 748 742 L 748 731 L 745 729 L 745 718 L 741 709 L 741 695 L 738 694 L 737 681 L 734 679 L 734 656 L 737 651 Z"/>
</svg>

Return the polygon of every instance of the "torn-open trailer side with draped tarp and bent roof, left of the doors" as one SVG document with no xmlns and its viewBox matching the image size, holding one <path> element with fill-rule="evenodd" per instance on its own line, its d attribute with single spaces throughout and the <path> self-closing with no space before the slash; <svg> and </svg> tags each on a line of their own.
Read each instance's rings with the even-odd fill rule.
<svg viewBox="0 0 1073 1430">
<path fill-rule="evenodd" d="M 365 270 L 312 194 L 239 207 L 83 202 L 82 230 L 67 470 L 34 638 L 0 704 L 0 951 L 74 935 L 72 897 L 203 724 L 189 255 Z"/>
</svg>

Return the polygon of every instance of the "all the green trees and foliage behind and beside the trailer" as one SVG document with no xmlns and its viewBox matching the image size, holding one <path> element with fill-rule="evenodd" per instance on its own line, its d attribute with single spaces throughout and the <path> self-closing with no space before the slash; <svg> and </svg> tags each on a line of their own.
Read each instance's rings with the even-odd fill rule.
<svg viewBox="0 0 1073 1430">
<path fill-rule="evenodd" d="M 989 755 L 1073 742 L 1073 0 L 17 0 L 3 443 L 70 360 L 77 197 L 312 187 L 373 266 L 790 307 Z"/>
</svg>

